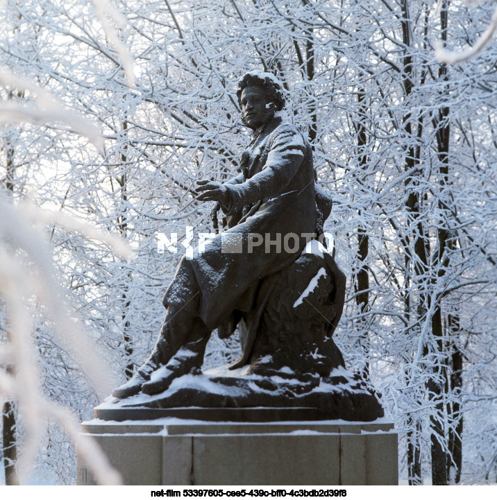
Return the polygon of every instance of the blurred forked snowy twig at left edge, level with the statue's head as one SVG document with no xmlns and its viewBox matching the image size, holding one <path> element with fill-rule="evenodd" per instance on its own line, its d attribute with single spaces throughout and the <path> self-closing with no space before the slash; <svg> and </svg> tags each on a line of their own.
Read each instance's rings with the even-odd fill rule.
<svg viewBox="0 0 497 500">
<path fill-rule="evenodd" d="M 23 78 L 6 67 L 0 67 L 0 85 L 28 92 L 33 100 L 26 102 L 1 101 L 0 126 L 13 123 L 59 123 L 84 135 L 96 148 L 103 146 L 100 129 L 89 119 L 62 105 L 55 96 L 28 78 Z"/>
</svg>

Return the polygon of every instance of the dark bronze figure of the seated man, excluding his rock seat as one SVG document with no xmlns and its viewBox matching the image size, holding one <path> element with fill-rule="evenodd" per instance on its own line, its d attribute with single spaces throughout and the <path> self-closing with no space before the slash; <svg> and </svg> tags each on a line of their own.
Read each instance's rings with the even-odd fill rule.
<svg viewBox="0 0 497 500">
<path fill-rule="evenodd" d="M 162 393 L 177 377 L 199 372 L 212 330 L 230 334 L 247 318 L 255 325 L 254 316 L 260 316 L 273 290 L 264 288 L 264 280 L 294 263 L 317 227 L 322 230 L 317 198 L 329 214 L 329 198 L 314 187 L 312 148 L 281 117 L 285 99 L 278 80 L 267 73 L 247 73 L 239 80 L 237 96 L 242 121 L 253 130 L 239 163 L 242 173 L 224 184 L 198 182 L 198 199 L 219 204 L 228 230 L 217 234 L 203 252 L 196 250 L 193 259 L 181 259 L 162 300 L 167 313 L 153 352 L 113 391 L 115 397 Z M 342 306 L 343 299 L 335 316 Z M 249 343 L 242 340 L 242 345 Z M 237 366 L 249 357 L 242 356 Z M 343 365 L 339 358 L 335 365 Z"/>
</svg>

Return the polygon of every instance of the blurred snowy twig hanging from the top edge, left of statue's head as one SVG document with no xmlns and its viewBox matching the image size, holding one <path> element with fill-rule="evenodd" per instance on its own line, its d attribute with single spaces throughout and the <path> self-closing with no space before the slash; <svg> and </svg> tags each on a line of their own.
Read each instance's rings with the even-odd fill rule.
<svg viewBox="0 0 497 500">
<path fill-rule="evenodd" d="M 102 25 L 103 32 L 106 34 L 110 45 L 115 49 L 115 51 L 117 51 L 119 58 L 121 58 L 128 85 L 129 87 L 133 87 L 136 83 L 133 58 L 110 22 L 110 20 L 112 20 L 117 28 L 122 29 L 126 26 L 126 19 L 121 12 L 119 12 L 119 10 L 108 2 L 108 0 L 92 1 L 96 11 L 96 16 L 99 18 Z"/>
</svg>

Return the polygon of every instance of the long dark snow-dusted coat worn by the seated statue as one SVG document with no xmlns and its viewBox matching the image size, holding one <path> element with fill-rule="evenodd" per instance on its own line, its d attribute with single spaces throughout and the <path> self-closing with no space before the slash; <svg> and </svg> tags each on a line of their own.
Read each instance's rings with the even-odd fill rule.
<svg viewBox="0 0 497 500">
<path fill-rule="evenodd" d="M 196 313 L 210 329 L 260 309 L 264 277 L 297 259 L 316 232 L 312 149 L 292 124 L 275 117 L 256 130 L 240 166 L 221 205 L 229 229 L 181 259 L 163 299 L 180 306 L 200 293 Z"/>
</svg>

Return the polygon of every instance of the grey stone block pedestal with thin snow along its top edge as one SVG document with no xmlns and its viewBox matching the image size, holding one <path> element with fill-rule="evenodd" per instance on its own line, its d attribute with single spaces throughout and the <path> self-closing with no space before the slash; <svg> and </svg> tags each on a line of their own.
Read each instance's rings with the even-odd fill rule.
<svg viewBox="0 0 497 500">
<path fill-rule="evenodd" d="M 126 485 L 162 485 L 164 489 L 169 485 L 398 484 L 397 434 L 385 419 L 220 423 L 186 420 L 184 412 L 192 417 L 194 408 L 180 408 L 185 419 L 147 420 L 147 413 L 153 418 L 156 411 L 140 411 L 143 420 L 136 422 L 83 422 L 83 439 L 96 439 Z M 204 416 L 210 411 L 201 409 Z M 235 415 L 237 411 L 241 417 Z M 224 410 L 233 420 L 251 420 L 249 414 L 258 411 Z M 279 417 L 298 414 L 296 408 L 271 411 Z M 171 410 L 162 412 L 177 415 Z M 255 415 L 252 420 L 258 418 Z M 77 483 L 94 484 L 79 458 Z"/>
</svg>

